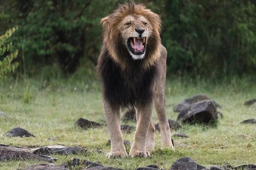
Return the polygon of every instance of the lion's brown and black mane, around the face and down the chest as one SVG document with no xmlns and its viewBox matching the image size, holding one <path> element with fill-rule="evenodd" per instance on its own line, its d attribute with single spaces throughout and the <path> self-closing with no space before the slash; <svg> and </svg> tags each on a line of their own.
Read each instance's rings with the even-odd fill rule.
<svg viewBox="0 0 256 170">
<path fill-rule="evenodd" d="M 142 60 L 133 60 L 122 43 L 117 25 L 127 15 L 142 15 L 153 27 Z M 144 5 L 130 2 L 119 5 L 101 23 L 103 41 L 97 72 L 103 85 L 103 100 L 121 107 L 152 102 L 152 85 L 157 71 L 155 62 L 160 57 L 160 17 Z"/>
</svg>

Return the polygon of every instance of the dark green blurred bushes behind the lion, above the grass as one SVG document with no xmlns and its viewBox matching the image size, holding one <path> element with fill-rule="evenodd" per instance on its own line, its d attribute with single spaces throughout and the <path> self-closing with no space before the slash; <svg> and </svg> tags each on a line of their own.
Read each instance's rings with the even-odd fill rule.
<svg viewBox="0 0 256 170">
<path fill-rule="evenodd" d="M 0 77 L 95 73 L 99 21 L 121 0 L 1 0 Z M 253 77 L 255 0 L 139 0 L 161 15 L 167 77 Z M 11 29 L 11 30 L 9 30 Z M 7 32 L 6 32 L 7 31 Z"/>
</svg>

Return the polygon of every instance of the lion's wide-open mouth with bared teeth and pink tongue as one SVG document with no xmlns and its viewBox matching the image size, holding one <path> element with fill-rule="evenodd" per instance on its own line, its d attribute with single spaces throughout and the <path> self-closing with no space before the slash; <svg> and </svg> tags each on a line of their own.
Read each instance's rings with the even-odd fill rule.
<svg viewBox="0 0 256 170">
<path fill-rule="evenodd" d="M 131 37 L 127 40 L 128 48 L 134 55 L 144 54 L 146 49 L 146 37 Z"/>
</svg>

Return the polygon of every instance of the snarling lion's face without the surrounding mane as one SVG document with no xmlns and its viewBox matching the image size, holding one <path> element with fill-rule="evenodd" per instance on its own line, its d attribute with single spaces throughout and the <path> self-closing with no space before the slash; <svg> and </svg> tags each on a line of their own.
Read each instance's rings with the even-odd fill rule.
<svg viewBox="0 0 256 170">
<path fill-rule="evenodd" d="M 143 16 L 126 16 L 119 24 L 122 41 L 134 60 L 145 56 L 147 38 L 152 33 L 151 23 Z"/>
</svg>

